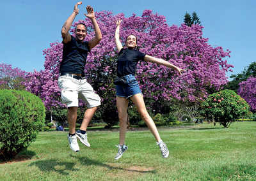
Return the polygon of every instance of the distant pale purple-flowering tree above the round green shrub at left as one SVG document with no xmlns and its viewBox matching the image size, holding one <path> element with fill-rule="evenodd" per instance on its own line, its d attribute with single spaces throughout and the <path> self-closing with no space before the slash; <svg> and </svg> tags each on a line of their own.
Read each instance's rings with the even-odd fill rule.
<svg viewBox="0 0 256 181">
<path fill-rule="evenodd" d="M 28 73 L 12 65 L 0 64 L 0 89 L 24 90 L 25 76 Z"/>
</svg>

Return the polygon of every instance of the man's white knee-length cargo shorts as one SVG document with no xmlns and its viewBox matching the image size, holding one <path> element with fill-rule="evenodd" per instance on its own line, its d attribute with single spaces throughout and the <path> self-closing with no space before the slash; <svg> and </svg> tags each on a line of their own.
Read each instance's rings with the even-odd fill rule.
<svg viewBox="0 0 256 181">
<path fill-rule="evenodd" d="M 58 86 L 61 89 L 62 103 L 68 107 L 78 107 L 78 98 L 81 98 L 87 108 L 100 105 L 100 96 L 93 91 L 92 85 L 86 79 L 77 80 L 71 76 L 60 76 Z"/>
</svg>

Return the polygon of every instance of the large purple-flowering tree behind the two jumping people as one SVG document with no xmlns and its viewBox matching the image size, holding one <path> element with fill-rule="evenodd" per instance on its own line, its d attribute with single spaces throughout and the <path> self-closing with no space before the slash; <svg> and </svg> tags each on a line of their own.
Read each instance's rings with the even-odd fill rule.
<svg viewBox="0 0 256 181">
<path fill-rule="evenodd" d="M 84 73 L 88 82 L 92 83 L 93 88 L 102 98 L 100 110 L 103 115 L 106 113 L 106 117 L 102 116 L 104 121 L 108 119 L 109 113 L 116 115 L 113 78 L 115 78 L 117 60 L 115 20 L 118 18 L 123 20 L 120 28 L 123 43 L 127 35 L 134 34 L 138 37 L 138 47 L 141 52 L 187 70 L 179 76 L 173 69 L 150 62 L 139 62 L 136 76 L 145 98 L 153 101 L 170 101 L 174 98 L 197 102 L 207 98 L 209 90 L 218 91 L 227 83 L 225 73 L 232 71 L 230 68 L 233 67 L 225 60 L 226 57 L 230 57 L 230 51 L 209 45 L 208 39 L 203 37 L 201 25 L 169 26 L 165 17 L 153 14 L 150 10 L 143 11 L 141 17 L 134 14 L 125 18 L 122 13 L 113 15 L 108 11 L 100 11 L 95 15 L 103 38 L 88 54 Z M 92 22 L 87 19 L 78 22 L 86 24 L 88 29 L 86 40 L 90 40 L 95 35 Z M 72 33 L 78 22 L 72 25 L 70 30 Z M 50 47 L 44 50 L 45 70 L 40 71 L 42 75 L 38 73 L 30 75 L 32 81 L 27 89 L 37 92 L 45 105 L 63 106 L 60 103 L 60 90 L 57 87 L 62 47 L 62 43 L 51 43 Z M 32 90 L 32 87 L 35 90 Z M 52 89 L 48 89 L 49 87 Z"/>
</svg>

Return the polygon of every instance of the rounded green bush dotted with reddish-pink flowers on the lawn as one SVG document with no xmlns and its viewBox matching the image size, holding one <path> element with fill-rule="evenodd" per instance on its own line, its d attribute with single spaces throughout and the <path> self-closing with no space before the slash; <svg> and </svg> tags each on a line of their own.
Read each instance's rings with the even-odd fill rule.
<svg viewBox="0 0 256 181">
<path fill-rule="evenodd" d="M 228 127 L 236 119 L 248 115 L 250 107 L 236 92 L 224 90 L 211 94 L 202 103 L 202 108 L 202 114 L 206 119 L 215 120 Z"/>
</svg>

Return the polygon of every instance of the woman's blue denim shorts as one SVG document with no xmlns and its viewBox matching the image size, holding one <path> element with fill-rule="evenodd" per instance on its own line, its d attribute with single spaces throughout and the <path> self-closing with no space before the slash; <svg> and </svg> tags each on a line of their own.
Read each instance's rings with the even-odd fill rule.
<svg viewBox="0 0 256 181">
<path fill-rule="evenodd" d="M 135 94 L 141 94 L 140 86 L 134 75 L 125 75 L 122 78 L 127 81 L 127 85 L 116 85 L 116 96 L 128 99 Z"/>
</svg>

